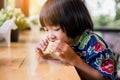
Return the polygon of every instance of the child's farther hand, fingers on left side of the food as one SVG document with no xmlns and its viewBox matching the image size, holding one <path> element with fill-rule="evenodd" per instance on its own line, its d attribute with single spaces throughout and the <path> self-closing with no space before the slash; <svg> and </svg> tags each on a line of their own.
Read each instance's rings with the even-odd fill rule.
<svg viewBox="0 0 120 80">
<path fill-rule="evenodd" d="M 48 45 L 48 41 L 47 39 L 42 40 L 40 43 L 38 43 L 37 47 L 36 47 L 36 52 L 40 55 L 43 56 L 43 51 L 46 49 Z"/>
</svg>

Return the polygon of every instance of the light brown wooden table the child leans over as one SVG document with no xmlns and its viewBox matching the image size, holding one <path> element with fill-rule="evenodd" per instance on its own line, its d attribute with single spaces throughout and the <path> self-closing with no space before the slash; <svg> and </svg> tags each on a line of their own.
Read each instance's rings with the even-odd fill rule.
<svg viewBox="0 0 120 80">
<path fill-rule="evenodd" d="M 0 80 L 80 80 L 74 66 L 36 57 L 40 34 L 21 32 L 10 48 L 0 43 Z"/>
</svg>

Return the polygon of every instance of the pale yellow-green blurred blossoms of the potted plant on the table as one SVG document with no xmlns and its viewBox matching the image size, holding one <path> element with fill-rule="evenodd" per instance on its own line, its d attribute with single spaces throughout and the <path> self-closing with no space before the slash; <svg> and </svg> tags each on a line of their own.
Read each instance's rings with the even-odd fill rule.
<svg viewBox="0 0 120 80">
<path fill-rule="evenodd" d="M 0 26 L 8 19 L 16 18 L 15 23 L 19 30 L 26 29 L 29 25 L 25 15 L 19 8 L 1 9 L 0 11 Z"/>
</svg>

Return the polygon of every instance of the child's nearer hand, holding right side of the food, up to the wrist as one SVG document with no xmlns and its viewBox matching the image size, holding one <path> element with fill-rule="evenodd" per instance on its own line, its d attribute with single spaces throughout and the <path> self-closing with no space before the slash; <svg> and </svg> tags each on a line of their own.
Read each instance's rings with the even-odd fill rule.
<svg viewBox="0 0 120 80">
<path fill-rule="evenodd" d="M 65 42 L 56 41 L 56 55 L 64 62 L 69 64 L 75 63 L 75 59 L 78 58 L 78 55 L 74 52 L 74 50 Z"/>
</svg>

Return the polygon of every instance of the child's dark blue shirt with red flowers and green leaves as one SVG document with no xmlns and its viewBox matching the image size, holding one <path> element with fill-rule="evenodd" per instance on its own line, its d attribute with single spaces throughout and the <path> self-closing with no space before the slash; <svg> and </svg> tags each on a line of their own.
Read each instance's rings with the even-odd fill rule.
<svg viewBox="0 0 120 80">
<path fill-rule="evenodd" d="M 116 59 L 104 40 L 97 34 L 86 30 L 75 41 L 72 48 L 91 67 L 97 69 L 103 77 L 115 79 Z"/>
</svg>

